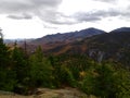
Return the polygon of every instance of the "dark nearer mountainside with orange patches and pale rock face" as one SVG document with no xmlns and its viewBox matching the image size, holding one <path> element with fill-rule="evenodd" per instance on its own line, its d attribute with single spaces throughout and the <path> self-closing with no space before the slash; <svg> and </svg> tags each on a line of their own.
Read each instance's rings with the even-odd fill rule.
<svg viewBox="0 0 130 98">
<path fill-rule="evenodd" d="M 94 60 L 115 60 L 130 64 L 130 32 L 110 32 L 48 50 L 54 54 L 88 54 Z"/>
</svg>

